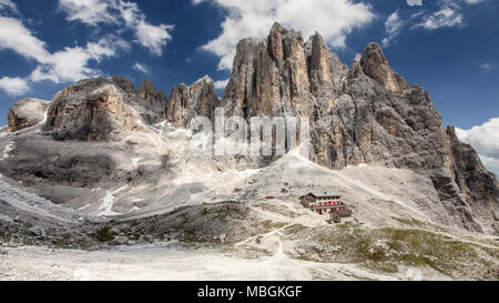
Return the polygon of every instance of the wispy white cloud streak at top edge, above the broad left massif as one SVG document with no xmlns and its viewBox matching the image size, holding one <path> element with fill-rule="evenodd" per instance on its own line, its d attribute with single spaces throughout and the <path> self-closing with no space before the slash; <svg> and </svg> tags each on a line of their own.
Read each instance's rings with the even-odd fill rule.
<svg viewBox="0 0 499 303">
<path fill-rule="evenodd" d="M 68 21 L 80 21 L 96 27 L 115 24 L 133 30 L 134 42 L 142 44 L 151 54 L 161 55 L 163 47 L 172 39 L 171 24 L 153 26 L 145 21 L 135 2 L 124 0 L 60 0 L 59 6 L 68 14 Z"/>
</svg>

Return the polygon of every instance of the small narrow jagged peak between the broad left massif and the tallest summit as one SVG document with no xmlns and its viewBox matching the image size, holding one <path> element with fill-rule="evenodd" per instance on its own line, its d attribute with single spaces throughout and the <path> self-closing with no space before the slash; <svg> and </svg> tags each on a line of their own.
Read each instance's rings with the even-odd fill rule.
<svg viewBox="0 0 499 303">
<path fill-rule="evenodd" d="M 172 89 L 166 119 L 176 127 L 189 127 L 194 117 L 213 118 L 220 99 L 213 80 L 205 75 L 187 87 L 184 83 Z"/>
</svg>

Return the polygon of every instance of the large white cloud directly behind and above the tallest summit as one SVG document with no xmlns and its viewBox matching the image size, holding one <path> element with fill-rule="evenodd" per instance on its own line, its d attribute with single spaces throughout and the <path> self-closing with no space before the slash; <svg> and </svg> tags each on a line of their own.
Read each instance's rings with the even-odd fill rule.
<svg viewBox="0 0 499 303">
<path fill-rule="evenodd" d="M 237 42 L 243 38 L 264 38 L 274 21 L 299 30 L 306 37 L 315 31 L 334 48 L 345 47 L 352 30 L 368 24 L 374 13 L 368 4 L 352 0 L 193 0 L 194 4 L 210 2 L 226 11 L 222 34 L 203 46 L 218 55 L 220 69 L 228 70 Z"/>
</svg>

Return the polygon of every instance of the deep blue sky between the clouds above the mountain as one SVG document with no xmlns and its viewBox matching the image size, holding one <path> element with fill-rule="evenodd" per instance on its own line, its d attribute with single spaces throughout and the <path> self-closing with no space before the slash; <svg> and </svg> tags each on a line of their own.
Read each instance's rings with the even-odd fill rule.
<svg viewBox="0 0 499 303">
<path fill-rule="evenodd" d="M 50 53 L 67 47 L 84 47 L 110 33 L 129 41 L 128 50 L 118 50 L 114 57 L 102 58 L 100 62 L 89 61 L 86 67 L 98 73 L 122 74 L 131 78 L 135 85 L 142 79 L 151 79 L 156 88 L 167 94 L 173 85 L 192 83 L 205 74 L 214 80 L 225 80 L 230 75 L 228 70 L 217 69 L 217 55 L 201 49 L 221 36 L 221 24 L 227 14 L 225 8 L 208 0 L 201 4 L 174 0 L 135 1 L 147 23 L 174 24 L 173 30 L 169 30 L 171 40 L 161 48 L 161 55 L 152 54 L 141 43 L 134 43 L 133 29 L 120 31 L 122 24 L 101 22 L 91 26 L 81 20 L 69 20 L 70 13 L 61 8 L 58 0 L 11 2 L 17 11 L 4 6 L 1 16 L 19 20 L 33 37 L 45 43 Z M 387 37 L 387 18 L 398 11 L 399 19 L 406 23 L 385 48 L 388 60 L 394 70 L 410 83 L 419 83 L 430 92 L 444 123 L 468 129 L 499 115 L 499 1 L 483 0 L 469 4 L 466 0 L 427 0 L 422 7 L 409 7 L 405 0 L 363 2 L 370 6 L 369 10 L 375 16 L 373 20 L 346 34 L 344 48 L 332 47 L 344 62 L 350 64 L 355 54 L 361 52 L 369 41 L 381 42 Z M 449 6 L 460 13 L 459 23 L 437 29 L 415 27 L 424 18 Z M 415 13 L 419 14 L 409 19 Z M 35 59 L 1 44 L 0 58 L 0 79 L 27 79 L 40 64 Z M 149 73 L 132 69 L 136 62 L 146 67 Z M 51 100 L 57 91 L 72 83 L 57 82 L 30 81 L 30 89 L 18 95 L 0 89 L 0 124 L 7 123 L 9 107 L 16 100 L 23 97 Z"/>
</svg>

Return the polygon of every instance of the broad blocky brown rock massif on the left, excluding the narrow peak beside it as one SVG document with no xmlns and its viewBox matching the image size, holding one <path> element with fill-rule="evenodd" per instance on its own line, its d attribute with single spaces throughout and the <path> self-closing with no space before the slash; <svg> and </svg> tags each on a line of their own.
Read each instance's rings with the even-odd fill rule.
<svg viewBox="0 0 499 303">
<path fill-rule="evenodd" d="M 167 99 L 151 81 L 138 90 L 122 77 L 82 80 L 57 93 L 44 131 L 57 140 L 115 141 L 140 125 L 164 120 Z"/>
</svg>

